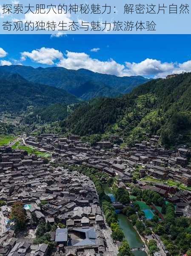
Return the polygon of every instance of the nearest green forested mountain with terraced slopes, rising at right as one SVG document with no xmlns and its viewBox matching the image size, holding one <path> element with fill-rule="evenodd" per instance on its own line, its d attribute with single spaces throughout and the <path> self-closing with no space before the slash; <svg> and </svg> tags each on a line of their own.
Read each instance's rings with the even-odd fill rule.
<svg viewBox="0 0 191 256">
<path fill-rule="evenodd" d="M 131 143 L 160 134 L 162 143 L 191 143 L 191 73 L 156 79 L 116 99 L 92 100 L 63 122 L 80 134 L 117 133 Z"/>
</svg>

